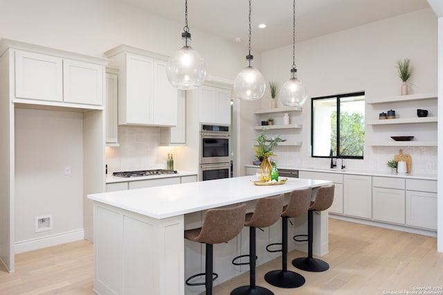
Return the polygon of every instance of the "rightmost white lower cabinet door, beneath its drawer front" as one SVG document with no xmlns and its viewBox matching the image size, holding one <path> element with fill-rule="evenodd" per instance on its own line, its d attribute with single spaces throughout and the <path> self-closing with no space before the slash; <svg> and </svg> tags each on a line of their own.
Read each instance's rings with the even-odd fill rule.
<svg viewBox="0 0 443 295">
<path fill-rule="evenodd" d="M 406 190 L 406 224 L 437 230 L 437 193 Z"/>
</svg>

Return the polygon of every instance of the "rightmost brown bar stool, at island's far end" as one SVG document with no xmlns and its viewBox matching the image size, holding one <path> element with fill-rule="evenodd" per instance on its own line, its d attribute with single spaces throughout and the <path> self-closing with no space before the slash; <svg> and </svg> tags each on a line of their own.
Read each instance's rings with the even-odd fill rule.
<svg viewBox="0 0 443 295">
<path fill-rule="evenodd" d="M 324 211 L 332 205 L 334 201 L 334 185 L 323 186 L 318 188 L 316 199 L 311 202 L 309 211 L 307 213 L 307 235 L 296 235 L 293 237 L 297 242 L 306 242 L 308 244 L 308 257 L 300 257 L 292 260 L 292 265 L 298 269 L 305 271 L 325 271 L 329 269 L 327 262 L 318 258 L 312 257 L 312 242 L 314 241 L 314 211 Z M 305 240 L 298 239 L 299 237 L 307 237 Z"/>
</svg>

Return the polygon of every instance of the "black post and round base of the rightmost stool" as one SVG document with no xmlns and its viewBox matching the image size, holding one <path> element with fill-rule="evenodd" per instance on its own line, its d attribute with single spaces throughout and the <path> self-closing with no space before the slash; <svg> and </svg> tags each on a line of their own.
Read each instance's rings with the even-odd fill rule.
<svg viewBox="0 0 443 295">
<path fill-rule="evenodd" d="M 312 244 L 314 242 L 314 210 L 307 213 L 307 253 L 308 257 L 300 257 L 292 260 L 292 265 L 304 271 L 325 271 L 329 269 L 329 265 L 318 258 L 312 257 Z"/>
</svg>

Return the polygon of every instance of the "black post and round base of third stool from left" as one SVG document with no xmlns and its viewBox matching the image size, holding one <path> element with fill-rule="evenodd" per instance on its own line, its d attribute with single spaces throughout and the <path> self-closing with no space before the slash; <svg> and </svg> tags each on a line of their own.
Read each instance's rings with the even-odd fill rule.
<svg viewBox="0 0 443 295">
<path fill-rule="evenodd" d="M 288 217 L 282 217 L 282 270 L 269 271 L 264 280 L 280 288 L 297 288 L 305 284 L 305 278 L 294 271 L 287 270 L 288 256 Z"/>
</svg>

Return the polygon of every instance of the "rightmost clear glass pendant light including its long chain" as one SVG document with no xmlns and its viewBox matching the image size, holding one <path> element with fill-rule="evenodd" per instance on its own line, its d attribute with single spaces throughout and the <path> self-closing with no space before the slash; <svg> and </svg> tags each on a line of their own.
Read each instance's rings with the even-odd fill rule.
<svg viewBox="0 0 443 295">
<path fill-rule="evenodd" d="M 307 92 L 302 82 L 297 79 L 296 68 L 296 0 L 293 0 L 293 29 L 292 29 L 292 69 L 291 78 L 280 89 L 280 100 L 288 107 L 301 107 L 306 99 Z"/>
</svg>

